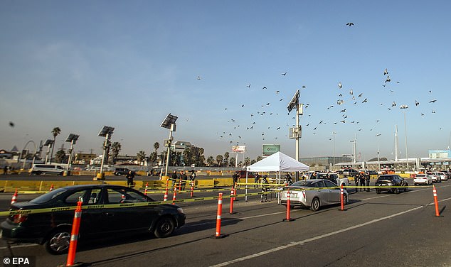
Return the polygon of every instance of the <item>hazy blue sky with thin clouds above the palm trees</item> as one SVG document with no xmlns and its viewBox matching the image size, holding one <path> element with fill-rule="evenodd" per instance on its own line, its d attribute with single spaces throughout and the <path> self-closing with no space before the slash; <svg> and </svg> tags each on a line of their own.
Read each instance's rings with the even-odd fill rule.
<svg viewBox="0 0 451 267">
<path fill-rule="evenodd" d="M 332 156 L 336 132 L 336 156 L 352 152 L 356 134 L 359 159 L 376 157 L 380 133 L 381 156 L 394 158 L 398 125 L 403 158 L 401 104 L 408 156 L 425 157 L 450 141 L 450 8 L 449 1 L 1 1 L 0 148 L 45 141 L 58 126 L 58 148 L 77 133 L 75 151 L 101 153 L 97 133 L 107 125 L 122 153 L 149 154 L 167 138 L 160 124 L 171 113 L 179 116 L 174 139 L 206 156 L 237 143 L 250 158 L 264 143 L 295 156 L 287 104 L 300 89 L 300 102 L 309 103 L 301 157 Z"/>
</svg>

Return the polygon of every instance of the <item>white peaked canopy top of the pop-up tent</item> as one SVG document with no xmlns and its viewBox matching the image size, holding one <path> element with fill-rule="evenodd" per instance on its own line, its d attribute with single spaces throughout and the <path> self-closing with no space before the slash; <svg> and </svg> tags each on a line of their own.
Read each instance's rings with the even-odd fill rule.
<svg viewBox="0 0 451 267">
<path fill-rule="evenodd" d="M 282 152 L 277 152 L 248 166 L 246 170 L 249 172 L 296 172 L 309 170 L 309 166 Z"/>
</svg>

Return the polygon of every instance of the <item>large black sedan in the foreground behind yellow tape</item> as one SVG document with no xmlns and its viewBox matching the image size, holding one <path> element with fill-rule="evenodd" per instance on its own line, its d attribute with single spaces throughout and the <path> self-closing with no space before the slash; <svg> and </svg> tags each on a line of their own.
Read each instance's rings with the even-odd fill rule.
<svg viewBox="0 0 451 267">
<path fill-rule="evenodd" d="M 181 207 L 170 204 L 138 205 L 153 202 L 142 192 L 119 185 L 76 185 L 61 187 L 28 202 L 17 202 L 11 210 L 64 209 L 83 201 L 80 240 L 105 238 L 137 232 L 166 237 L 185 224 Z M 123 205 L 123 203 L 130 203 Z M 117 204 L 115 207 L 102 205 Z M 119 207 L 124 206 L 124 207 Z M 112 207 L 112 208 L 111 208 Z M 43 244 L 51 254 L 67 253 L 70 244 L 74 210 L 16 214 L 0 224 L 2 238 L 16 242 Z"/>
</svg>

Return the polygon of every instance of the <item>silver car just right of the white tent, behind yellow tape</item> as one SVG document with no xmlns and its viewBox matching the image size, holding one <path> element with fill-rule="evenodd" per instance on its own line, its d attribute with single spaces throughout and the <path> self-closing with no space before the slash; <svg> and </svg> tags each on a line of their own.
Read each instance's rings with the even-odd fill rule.
<svg viewBox="0 0 451 267">
<path fill-rule="evenodd" d="M 290 190 L 290 206 L 309 207 L 316 212 L 324 205 L 340 204 L 340 188 L 324 179 L 302 180 L 283 187 L 280 200 L 287 205 L 287 192 Z M 348 202 L 348 192 L 343 190 L 344 205 Z"/>
</svg>

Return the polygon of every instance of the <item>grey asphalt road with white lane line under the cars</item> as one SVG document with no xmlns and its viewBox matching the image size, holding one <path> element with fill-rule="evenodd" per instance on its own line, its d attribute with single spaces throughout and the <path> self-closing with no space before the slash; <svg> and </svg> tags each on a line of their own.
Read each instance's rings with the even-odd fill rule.
<svg viewBox="0 0 451 267">
<path fill-rule="evenodd" d="M 409 182 L 410 185 L 413 182 Z M 216 232 L 216 201 L 182 203 L 186 226 L 174 236 L 80 241 L 75 261 L 92 266 L 451 266 L 451 181 L 436 184 L 440 217 L 435 217 L 431 187 L 399 195 L 357 192 L 346 211 L 338 206 L 311 212 L 286 209 L 274 199 L 223 202 L 222 239 Z M 243 192 L 238 192 L 238 194 Z M 216 194 L 216 193 L 215 193 Z M 213 195 L 213 193 L 210 193 Z M 27 197 L 33 197 L 27 195 Z M 160 197 L 160 196 L 159 196 Z M 156 197 L 156 198 L 159 198 Z M 11 194 L 0 195 L 0 207 Z M 66 256 L 46 254 L 42 246 L 17 244 L 0 254 L 36 256 L 37 266 L 58 266 Z"/>
</svg>

